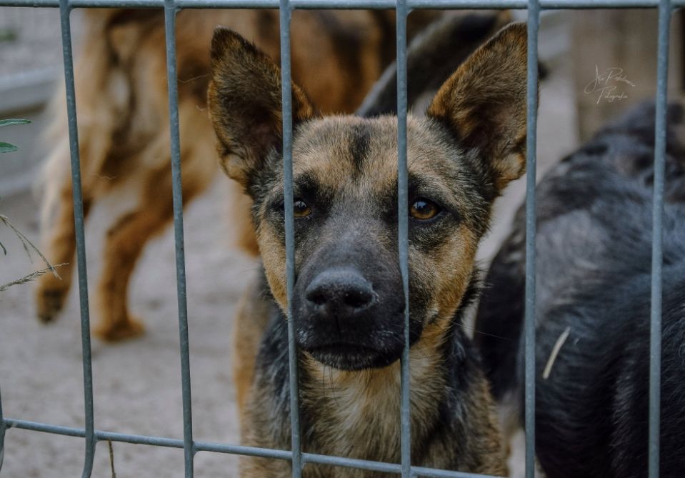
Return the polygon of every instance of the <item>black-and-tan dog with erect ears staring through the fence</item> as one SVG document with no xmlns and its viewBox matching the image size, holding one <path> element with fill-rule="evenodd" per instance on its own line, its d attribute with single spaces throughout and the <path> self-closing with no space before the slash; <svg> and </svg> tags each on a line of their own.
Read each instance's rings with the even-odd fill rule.
<svg viewBox="0 0 685 478">
<path fill-rule="evenodd" d="M 253 201 L 263 269 L 241 309 L 243 324 L 266 323 L 242 405 L 244 444 L 291 447 L 284 208 L 293 207 L 303 450 L 399 462 L 396 224 L 408 214 L 412 462 L 506 474 L 489 384 L 461 317 L 478 294 L 475 254 L 492 202 L 525 170 L 526 51 L 526 26 L 505 27 L 442 84 L 425 118 L 409 114 L 409 211 L 399 213 L 396 116 L 320 116 L 296 83 L 295 199 L 284 204 L 279 67 L 239 34 L 214 32 L 209 114 L 222 168 Z M 290 468 L 246 457 L 241 477 L 287 477 Z"/>
</svg>

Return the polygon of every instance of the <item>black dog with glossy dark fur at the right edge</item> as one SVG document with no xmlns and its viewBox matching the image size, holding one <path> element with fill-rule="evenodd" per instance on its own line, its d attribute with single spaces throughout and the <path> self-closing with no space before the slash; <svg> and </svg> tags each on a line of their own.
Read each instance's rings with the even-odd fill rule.
<svg viewBox="0 0 685 478">
<path fill-rule="evenodd" d="M 536 452 L 549 478 L 647 476 L 654 105 L 562 160 L 537 187 Z M 685 470 L 685 109 L 668 109 L 661 477 Z M 525 227 L 491 264 L 476 344 L 520 426 Z M 556 349 L 556 352 L 553 350 Z"/>
</svg>

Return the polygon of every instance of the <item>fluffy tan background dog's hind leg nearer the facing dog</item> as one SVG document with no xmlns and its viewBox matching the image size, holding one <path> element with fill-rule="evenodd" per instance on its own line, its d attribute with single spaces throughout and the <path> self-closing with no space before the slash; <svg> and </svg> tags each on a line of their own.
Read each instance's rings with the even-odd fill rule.
<svg viewBox="0 0 685 478">
<path fill-rule="evenodd" d="M 216 173 L 214 141 L 208 119 L 196 108 L 194 99 L 179 104 L 181 157 L 183 163 L 183 205 L 198 196 Z M 186 140 L 187 139 L 187 140 Z M 185 140 L 185 141 L 184 141 Z M 106 234 L 104 267 L 98 287 L 101 319 L 94 334 L 114 342 L 136 337 L 143 325 L 129 312 L 127 291 L 145 245 L 164 230 L 174 217 L 171 196 L 169 130 L 163 129 L 131 164 L 149 165 L 144 171 L 140 201 L 136 209 L 120 216 Z M 151 166 L 154 165 L 154 166 Z"/>
</svg>

